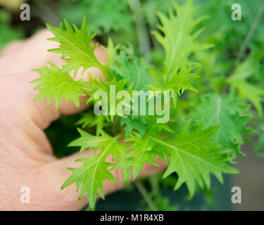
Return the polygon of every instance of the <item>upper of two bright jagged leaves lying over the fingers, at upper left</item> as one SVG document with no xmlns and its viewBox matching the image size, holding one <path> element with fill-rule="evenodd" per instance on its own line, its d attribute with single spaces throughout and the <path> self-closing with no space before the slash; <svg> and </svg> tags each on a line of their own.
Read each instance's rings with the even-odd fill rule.
<svg viewBox="0 0 264 225">
<path fill-rule="evenodd" d="M 87 29 L 86 19 L 84 18 L 80 29 L 73 25 L 73 30 L 66 20 L 64 20 L 64 23 L 65 30 L 63 29 L 62 23 L 59 28 L 48 24 L 46 25 L 55 35 L 55 37 L 49 40 L 61 44 L 57 49 L 50 49 L 49 51 L 62 54 L 63 60 L 67 63 L 63 66 L 62 72 L 74 70 L 76 75 L 81 67 L 83 68 L 82 72 L 85 72 L 88 68 L 96 67 L 103 72 L 103 75 L 107 79 L 111 79 L 111 77 L 109 77 L 108 68 L 99 63 L 99 60 L 97 60 L 94 55 L 94 49 L 96 49 L 98 44 L 94 46 L 90 44 L 95 34 L 89 34 L 90 30 Z"/>
</svg>

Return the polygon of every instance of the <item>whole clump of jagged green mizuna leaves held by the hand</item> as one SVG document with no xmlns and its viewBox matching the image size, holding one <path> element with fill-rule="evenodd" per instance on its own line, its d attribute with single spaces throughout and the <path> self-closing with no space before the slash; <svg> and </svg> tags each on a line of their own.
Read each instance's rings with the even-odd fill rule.
<svg viewBox="0 0 264 225">
<path fill-rule="evenodd" d="M 153 36 L 164 51 L 163 62 L 159 65 L 137 57 L 129 44 L 114 45 L 110 38 L 106 47 L 108 61 L 101 63 L 94 55 L 97 44 L 91 44 L 95 34 L 87 28 L 85 19 L 80 28 L 71 27 L 67 21 L 64 27 L 63 24 L 58 28 L 47 25 L 55 35 L 51 41 L 60 43 L 58 49 L 49 51 L 62 54 L 65 65 L 58 68 L 49 63 L 49 67 L 34 70 L 40 74 L 33 81 L 39 83 L 34 88 L 39 91 L 36 100 L 46 98 L 49 104 L 54 98 L 58 108 L 61 98 L 80 106 L 80 96 L 89 96 L 87 104 L 104 105 L 96 91 L 106 91 L 107 100 L 111 101 L 115 98 L 111 96 L 111 86 L 115 86 L 116 93 L 170 91 L 170 120 L 165 123 L 157 123 L 161 116 L 156 110 L 153 115 L 113 115 L 113 108 L 117 108 L 121 100 L 116 100 L 114 105 L 108 104 L 107 113 L 103 115 L 88 110 L 77 121 L 81 126 L 78 128 L 80 138 L 69 146 L 80 146 L 77 162 L 83 164 L 68 168 L 73 174 L 62 188 L 76 182 L 80 198 L 87 197 L 92 210 L 96 196 L 103 198 L 103 182 L 107 179 L 116 182 L 112 169 L 121 168 L 127 184 L 131 170 L 134 180 L 145 163 L 158 167 L 155 159 L 160 158 L 168 163 L 163 178 L 176 173 L 175 190 L 186 184 L 189 198 L 198 188 L 210 189 L 210 174 L 222 183 L 223 173 L 238 172 L 232 164 L 237 156 L 244 155 L 240 150 L 244 135 L 252 134 L 247 126 L 250 112 L 263 114 L 261 96 L 264 90 L 256 82 L 248 82 L 253 56 L 237 63 L 229 73 L 212 75 L 215 74 L 212 70 L 218 70 L 214 64 L 210 68 L 216 57 L 215 51 L 211 51 L 214 45 L 199 40 L 203 30 L 206 31 L 206 26 L 201 25 L 206 15 L 197 17 L 195 13 L 192 1 L 184 5 L 172 1 L 168 15 L 158 13 L 161 23 Z M 209 58 L 210 62 L 206 62 Z M 84 73 L 91 67 L 98 68 L 103 79 L 89 77 L 89 82 L 74 79 L 80 68 Z M 149 96 L 147 104 L 151 98 L 165 101 L 165 96 L 153 95 Z M 96 132 L 89 127 L 96 127 Z M 122 137 L 128 144 L 120 141 Z M 87 149 L 94 150 L 94 157 L 82 158 Z"/>
</svg>

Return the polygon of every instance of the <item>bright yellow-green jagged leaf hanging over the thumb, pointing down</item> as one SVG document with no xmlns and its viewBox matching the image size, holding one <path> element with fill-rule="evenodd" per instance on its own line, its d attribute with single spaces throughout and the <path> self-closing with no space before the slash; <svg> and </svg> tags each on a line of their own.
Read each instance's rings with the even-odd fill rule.
<svg viewBox="0 0 264 225">
<path fill-rule="evenodd" d="M 115 178 L 109 171 L 110 169 L 122 168 L 124 182 L 127 184 L 130 179 L 131 163 L 130 158 L 127 158 L 127 146 L 120 143 L 119 136 L 109 136 L 104 131 L 101 131 L 101 136 L 93 136 L 81 129 L 78 129 L 81 134 L 79 139 L 71 142 L 69 146 L 81 146 L 80 155 L 87 148 L 94 148 L 94 153 L 97 150 L 101 151 L 92 158 L 80 158 L 77 162 L 84 162 L 84 164 L 77 168 L 68 168 L 73 174 L 68 178 L 61 188 L 65 188 L 70 184 L 77 182 L 77 191 L 80 188 L 79 198 L 89 198 L 89 205 L 94 210 L 96 196 L 98 191 L 103 198 L 103 181 L 116 182 Z M 106 162 L 106 158 L 112 155 L 112 162 Z M 118 158 L 117 162 L 114 162 Z"/>
</svg>

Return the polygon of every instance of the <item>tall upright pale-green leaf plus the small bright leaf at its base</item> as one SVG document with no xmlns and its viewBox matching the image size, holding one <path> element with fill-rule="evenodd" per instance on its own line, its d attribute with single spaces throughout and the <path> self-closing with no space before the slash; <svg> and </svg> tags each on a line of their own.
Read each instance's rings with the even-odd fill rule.
<svg viewBox="0 0 264 225">
<path fill-rule="evenodd" d="M 168 17 L 164 13 L 158 13 L 161 25 L 158 29 L 161 33 L 153 32 L 156 39 L 161 43 L 165 51 L 163 76 L 156 78 L 158 85 L 149 86 L 151 89 L 162 89 L 170 91 L 174 104 L 177 103 L 177 94 L 182 95 L 185 90 L 196 91 L 191 82 L 198 76 L 194 69 L 198 68 L 197 63 L 191 62 L 191 53 L 206 50 L 211 47 L 196 41 L 203 29 L 194 32 L 194 29 L 205 17 L 194 18 L 196 8 L 191 1 L 180 6 L 172 1 L 173 8 L 170 8 Z M 177 13 L 177 14 L 175 14 Z M 186 15 L 189 15 L 187 18 Z M 174 27 L 174 29 L 171 29 Z M 158 75 L 157 73 L 157 76 Z"/>
</svg>

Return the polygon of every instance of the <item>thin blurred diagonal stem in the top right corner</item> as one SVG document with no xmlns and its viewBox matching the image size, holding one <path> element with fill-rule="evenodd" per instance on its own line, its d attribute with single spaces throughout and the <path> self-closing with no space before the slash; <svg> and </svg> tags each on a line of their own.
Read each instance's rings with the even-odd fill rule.
<svg viewBox="0 0 264 225">
<path fill-rule="evenodd" d="M 241 47 L 241 49 L 239 51 L 239 54 L 237 56 L 237 60 L 236 60 L 237 63 L 239 63 L 239 61 L 241 60 L 241 58 L 243 58 L 244 52 L 246 50 L 246 47 L 249 45 L 249 42 L 251 41 L 251 39 L 253 37 L 253 33 L 255 32 L 256 28 L 258 27 L 258 23 L 259 23 L 259 20 L 261 18 L 261 15 L 263 14 L 263 11 L 264 11 L 264 2 L 260 6 L 260 8 L 258 10 L 258 13 L 256 15 L 256 18 L 255 18 L 255 20 L 253 21 L 253 23 L 251 25 L 251 28 L 249 30 L 249 33 L 246 35 L 246 39 L 244 40 L 244 43 L 242 44 L 242 47 Z"/>
</svg>

